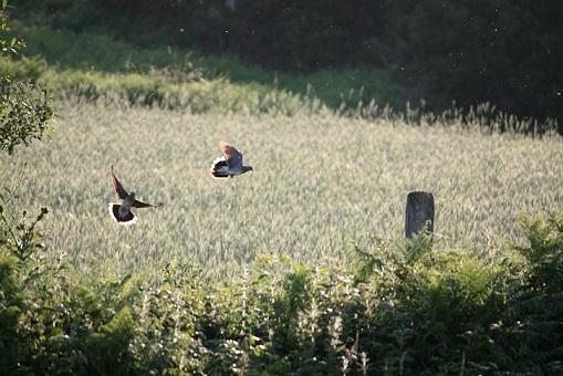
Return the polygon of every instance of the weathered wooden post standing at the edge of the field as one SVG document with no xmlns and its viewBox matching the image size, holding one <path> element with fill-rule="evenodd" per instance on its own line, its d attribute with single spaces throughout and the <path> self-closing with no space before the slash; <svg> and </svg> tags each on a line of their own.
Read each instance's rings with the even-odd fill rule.
<svg viewBox="0 0 563 376">
<path fill-rule="evenodd" d="M 430 192 L 415 191 L 407 195 L 405 236 L 413 238 L 420 231 L 434 232 L 434 196 Z"/>
</svg>

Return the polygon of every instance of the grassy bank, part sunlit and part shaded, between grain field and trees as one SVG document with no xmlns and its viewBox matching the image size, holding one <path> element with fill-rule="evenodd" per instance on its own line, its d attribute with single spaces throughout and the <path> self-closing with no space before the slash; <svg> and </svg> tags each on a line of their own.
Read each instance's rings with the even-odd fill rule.
<svg viewBox="0 0 563 376">
<path fill-rule="evenodd" d="M 138 48 L 98 31 L 53 30 L 49 23 L 14 20 L 13 33 L 30 48 L 0 70 L 49 84 L 59 97 L 188 109 L 194 113 L 283 113 L 299 107 L 326 108 L 352 117 L 397 117 L 411 124 L 456 124 L 534 136 L 552 133 L 557 123 L 518 118 L 490 103 L 452 107 L 434 114 L 426 104 L 400 102 L 400 87 L 385 69 L 324 69 L 309 74 L 272 72 L 236 56 L 202 55 L 176 46 Z M 38 25 L 42 24 L 42 25 Z M 94 29 L 97 30 L 97 29 Z M 49 38 L 44 38 L 49 35 Z"/>
</svg>

